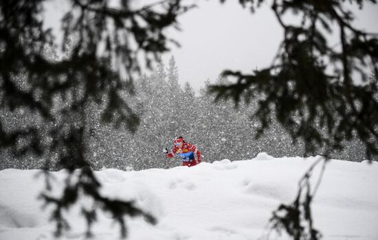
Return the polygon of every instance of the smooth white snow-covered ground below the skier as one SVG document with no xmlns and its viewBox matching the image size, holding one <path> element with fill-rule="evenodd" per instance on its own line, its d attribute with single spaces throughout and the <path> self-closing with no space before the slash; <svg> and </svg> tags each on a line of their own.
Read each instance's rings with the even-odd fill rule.
<svg viewBox="0 0 378 240">
<path fill-rule="evenodd" d="M 201 163 L 195 167 L 144 171 L 96 171 L 104 194 L 133 199 L 157 216 L 155 226 L 127 219 L 128 239 L 259 239 L 267 237 L 271 212 L 294 200 L 298 180 L 319 157 Z M 313 174 L 318 178 L 320 166 Z M 37 196 L 44 188 L 37 170 L 0 171 L 0 239 L 54 239 L 49 208 Z M 55 172 L 63 186 L 65 171 Z M 313 200 L 313 219 L 322 239 L 378 239 L 378 164 L 331 160 Z M 85 222 L 69 211 L 71 230 L 61 239 L 85 239 Z M 106 214 L 93 226 L 94 239 L 120 239 Z M 287 237 L 283 236 L 283 239 Z M 270 235 L 270 239 L 277 239 Z"/>
</svg>

